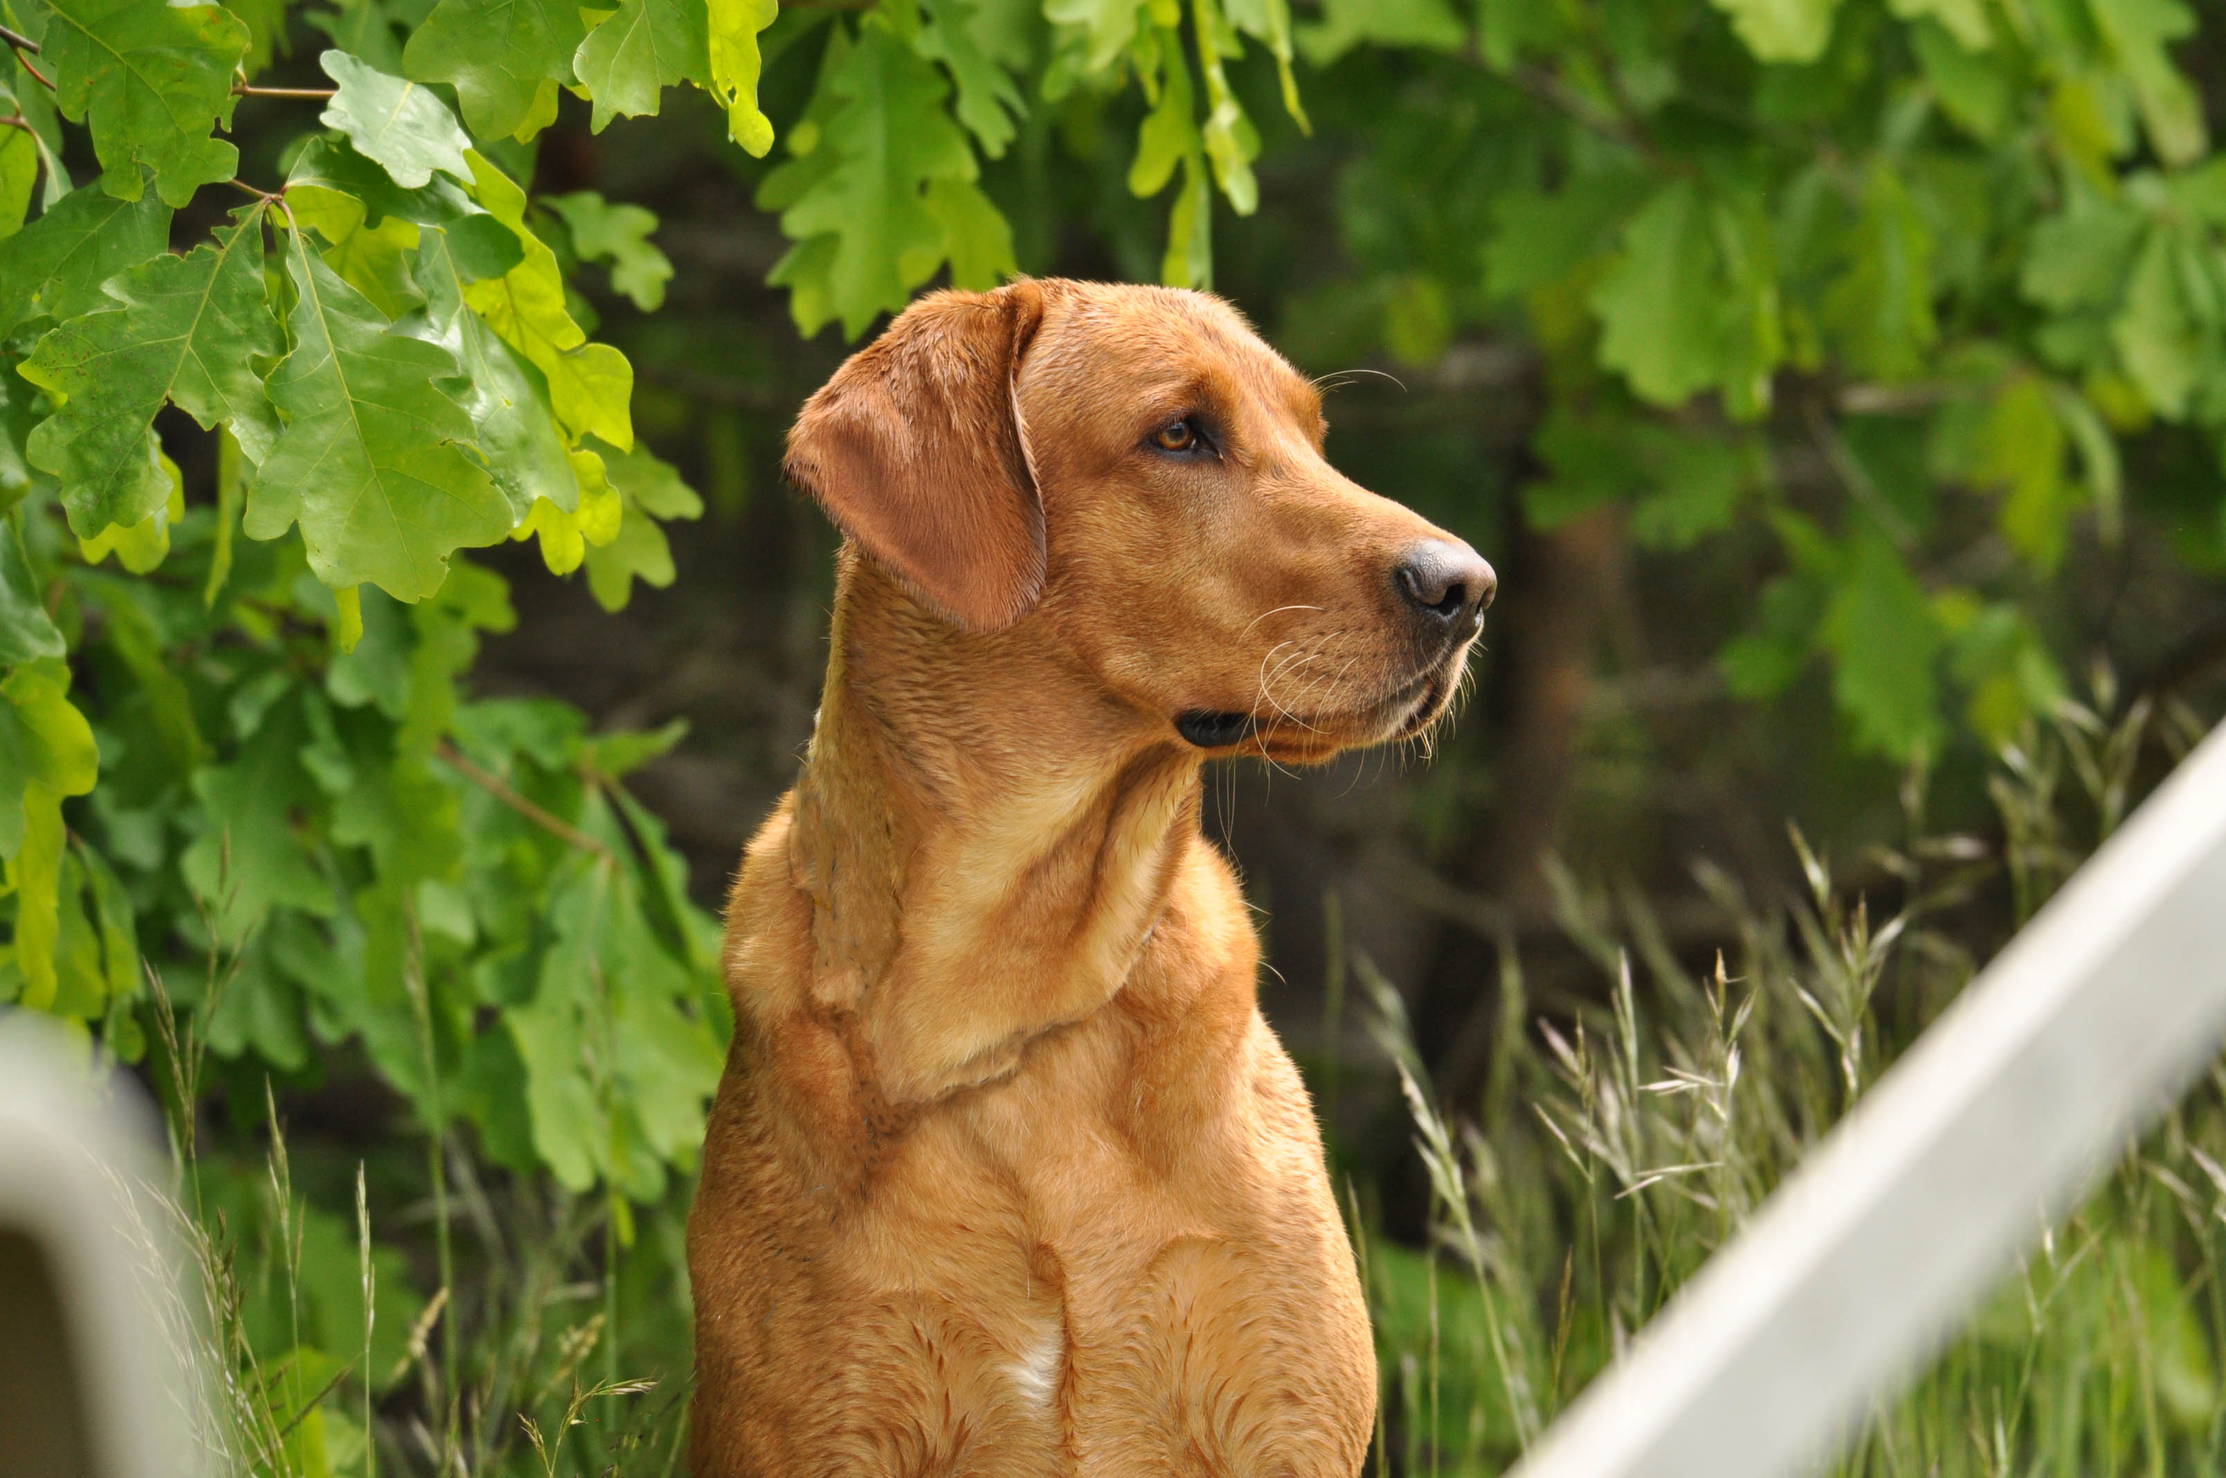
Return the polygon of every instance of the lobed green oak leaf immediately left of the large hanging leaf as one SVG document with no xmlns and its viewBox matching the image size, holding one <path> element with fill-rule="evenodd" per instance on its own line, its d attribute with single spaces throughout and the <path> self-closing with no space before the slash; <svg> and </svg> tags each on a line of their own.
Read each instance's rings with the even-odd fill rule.
<svg viewBox="0 0 2226 1478">
<path fill-rule="evenodd" d="M 149 470 L 145 452 L 165 403 L 203 427 L 229 425 L 252 461 L 278 434 L 254 363 L 285 352 L 263 294 L 260 207 L 187 256 L 131 267 L 109 296 L 120 307 L 71 318 L 20 367 L 60 405 L 31 432 L 29 452 L 62 481 L 80 539 L 131 528 L 169 501 L 169 476 Z"/>
</svg>

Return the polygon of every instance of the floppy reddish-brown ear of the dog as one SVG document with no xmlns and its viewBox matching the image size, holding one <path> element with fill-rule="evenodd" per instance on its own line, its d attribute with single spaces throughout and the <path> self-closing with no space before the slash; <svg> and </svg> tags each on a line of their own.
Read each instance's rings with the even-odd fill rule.
<svg viewBox="0 0 2226 1478">
<path fill-rule="evenodd" d="M 930 610 L 995 632 L 1044 588 L 1044 501 L 1013 376 L 1044 292 L 939 292 L 804 403 L 788 481 Z"/>
</svg>

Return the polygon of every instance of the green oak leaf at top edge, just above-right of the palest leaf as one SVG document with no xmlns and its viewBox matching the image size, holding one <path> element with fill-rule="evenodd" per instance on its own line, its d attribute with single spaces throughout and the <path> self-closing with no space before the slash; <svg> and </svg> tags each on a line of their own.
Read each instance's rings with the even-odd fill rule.
<svg viewBox="0 0 2226 1478">
<path fill-rule="evenodd" d="M 403 71 L 450 82 L 465 125 L 499 138 L 525 127 L 543 82 L 572 80 L 572 53 L 585 38 L 588 24 L 568 0 L 441 0 L 403 47 Z"/>
</svg>

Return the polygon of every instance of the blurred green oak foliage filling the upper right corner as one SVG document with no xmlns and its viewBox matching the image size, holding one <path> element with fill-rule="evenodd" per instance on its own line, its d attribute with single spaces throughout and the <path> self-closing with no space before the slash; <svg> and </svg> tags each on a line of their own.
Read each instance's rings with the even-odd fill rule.
<svg viewBox="0 0 2226 1478">
<path fill-rule="evenodd" d="M 2195 20 L 2175 0 L 1324 4 L 1300 45 L 1351 60 L 1309 89 L 1362 140 L 1340 196 L 1362 280 L 1338 312 L 1380 305 L 1393 356 L 1471 327 L 1536 347 L 1531 519 L 1618 510 L 1658 548 L 1774 532 L 1785 574 L 1723 652 L 1734 690 L 1814 663 L 1856 750 L 1999 741 L 2061 690 L 2061 581 L 2128 539 L 2124 467 L 2226 456 L 2226 176 Z M 1416 303 L 1440 305 L 1420 341 Z M 1287 336 L 1316 312 L 1296 303 Z M 1727 443 L 1750 450 L 1736 479 L 1707 450 Z M 2226 568 L 2215 485 L 2168 519 L 2181 559 Z M 1983 572 L 1957 561 L 1979 521 L 2001 550 Z M 2028 681 L 1961 657 L 1981 608 L 2028 634 Z"/>
</svg>

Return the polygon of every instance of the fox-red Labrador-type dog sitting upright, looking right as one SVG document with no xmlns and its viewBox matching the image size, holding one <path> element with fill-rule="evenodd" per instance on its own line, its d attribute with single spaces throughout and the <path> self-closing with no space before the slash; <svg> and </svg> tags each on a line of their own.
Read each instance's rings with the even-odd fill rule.
<svg viewBox="0 0 2226 1478">
<path fill-rule="evenodd" d="M 939 292 L 804 405 L 826 692 L 726 915 L 695 1478 L 1356 1474 L 1360 1278 L 1200 768 L 1447 708 L 1491 568 L 1227 303 Z"/>
</svg>

